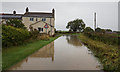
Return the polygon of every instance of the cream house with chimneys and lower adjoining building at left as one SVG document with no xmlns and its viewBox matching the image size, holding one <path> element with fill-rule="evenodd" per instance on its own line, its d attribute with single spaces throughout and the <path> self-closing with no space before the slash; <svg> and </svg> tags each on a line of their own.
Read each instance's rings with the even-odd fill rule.
<svg viewBox="0 0 120 72">
<path fill-rule="evenodd" d="M 40 33 L 47 33 L 49 35 L 55 34 L 55 10 L 52 9 L 51 13 L 47 12 L 29 12 L 29 8 L 26 8 L 24 14 L 16 14 L 13 11 L 12 14 L 2 13 L 0 14 L 1 23 L 6 24 L 8 19 L 20 19 L 25 27 L 30 31 L 31 29 L 37 29 Z"/>
</svg>

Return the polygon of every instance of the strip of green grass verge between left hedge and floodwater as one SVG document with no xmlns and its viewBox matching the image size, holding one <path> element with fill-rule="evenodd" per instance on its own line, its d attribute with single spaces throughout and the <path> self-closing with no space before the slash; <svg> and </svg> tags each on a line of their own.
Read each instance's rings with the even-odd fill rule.
<svg viewBox="0 0 120 72">
<path fill-rule="evenodd" d="M 49 40 L 37 40 L 21 46 L 15 46 L 15 47 L 3 49 L 2 50 L 2 70 L 7 70 L 9 67 L 20 62 L 27 56 L 31 55 L 32 53 L 36 52 L 43 46 L 54 41 L 58 37 L 59 36 L 50 37 Z"/>
</svg>

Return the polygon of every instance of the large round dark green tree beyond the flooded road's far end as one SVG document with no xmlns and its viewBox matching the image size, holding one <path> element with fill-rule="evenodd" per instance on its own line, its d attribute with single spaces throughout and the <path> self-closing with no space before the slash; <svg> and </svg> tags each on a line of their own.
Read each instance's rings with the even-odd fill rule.
<svg viewBox="0 0 120 72">
<path fill-rule="evenodd" d="M 83 22 L 82 19 L 76 19 L 76 20 L 68 22 L 66 28 L 69 29 L 69 31 L 82 32 L 85 28 L 85 23 Z"/>
</svg>

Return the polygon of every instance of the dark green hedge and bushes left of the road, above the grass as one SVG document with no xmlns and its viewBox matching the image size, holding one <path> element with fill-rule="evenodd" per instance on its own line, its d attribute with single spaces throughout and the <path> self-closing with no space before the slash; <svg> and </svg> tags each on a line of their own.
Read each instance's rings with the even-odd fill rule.
<svg viewBox="0 0 120 72">
<path fill-rule="evenodd" d="M 36 29 L 29 32 L 25 29 L 21 20 L 12 19 L 8 20 L 7 24 L 2 24 L 2 47 L 7 48 L 10 46 L 18 46 L 31 40 L 41 39 L 48 40 L 48 35 L 40 35 Z"/>
</svg>

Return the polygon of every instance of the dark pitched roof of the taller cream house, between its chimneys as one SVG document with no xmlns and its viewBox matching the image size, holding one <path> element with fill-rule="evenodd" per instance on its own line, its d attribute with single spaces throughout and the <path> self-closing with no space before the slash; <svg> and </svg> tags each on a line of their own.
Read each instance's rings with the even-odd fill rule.
<svg viewBox="0 0 120 72">
<path fill-rule="evenodd" d="M 50 18 L 53 17 L 52 13 L 45 13 L 45 12 L 26 12 L 24 17 L 45 17 Z"/>
</svg>

